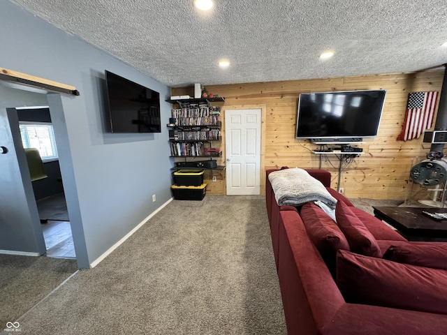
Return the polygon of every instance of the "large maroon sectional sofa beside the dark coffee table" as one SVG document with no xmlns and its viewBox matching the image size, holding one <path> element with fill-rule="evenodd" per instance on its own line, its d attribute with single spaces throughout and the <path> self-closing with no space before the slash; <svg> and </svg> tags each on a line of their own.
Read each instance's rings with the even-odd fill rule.
<svg viewBox="0 0 447 335">
<path fill-rule="evenodd" d="M 268 178 L 274 171 L 266 174 L 265 200 L 288 334 L 447 334 L 447 265 L 442 269 L 447 244 L 406 241 L 331 189 L 326 170 L 307 172 L 337 199 L 337 223 L 313 203 L 278 206 Z M 354 226 L 358 221 L 364 224 L 362 237 L 372 235 L 366 250 L 351 236 L 358 232 L 355 227 L 334 228 L 334 223 L 343 225 L 346 220 L 355 221 Z M 315 228 L 332 233 L 316 241 L 314 232 L 321 231 Z M 407 246 L 434 246 L 436 250 L 427 253 L 435 253 L 441 266 L 432 269 L 383 259 Z M 369 252 L 374 257 L 360 254 Z"/>
</svg>

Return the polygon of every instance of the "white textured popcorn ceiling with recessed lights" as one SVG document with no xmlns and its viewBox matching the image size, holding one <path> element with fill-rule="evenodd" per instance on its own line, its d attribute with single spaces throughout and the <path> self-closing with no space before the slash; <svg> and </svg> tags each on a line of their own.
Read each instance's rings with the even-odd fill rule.
<svg viewBox="0 0 447 335">
<path fill-rule="evenodd" d="M 207 15 L 193 0 L 10 1 L 170 87 L 447 63 L 446 0 L 214 0 Z M 325 50 L 335 56 L 321 61 Z"/>
</svg>

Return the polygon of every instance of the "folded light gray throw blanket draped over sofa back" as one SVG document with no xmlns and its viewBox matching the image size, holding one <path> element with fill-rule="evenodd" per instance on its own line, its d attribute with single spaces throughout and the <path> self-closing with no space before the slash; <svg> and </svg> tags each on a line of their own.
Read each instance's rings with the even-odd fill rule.
<svg viewBox="0 0 447 335">
<path fill-rule="evenodd" d="M 300 168 L 284 169 L 268 175 L 279 206 L 301 206 L 306 202 L 321 201 L 334 209 L 337 200 L 330 195 L 325 186 Z"/>
</svg>

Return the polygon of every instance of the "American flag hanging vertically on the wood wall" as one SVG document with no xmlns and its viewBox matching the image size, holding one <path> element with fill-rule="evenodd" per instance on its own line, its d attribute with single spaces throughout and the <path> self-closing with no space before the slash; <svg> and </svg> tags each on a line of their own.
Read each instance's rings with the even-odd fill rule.
<svg viewBox="0 0 447 335">
<path fill-rule="evenodd" d="M 405 121 L 402 133 L 397 140 L 406 141 L 419 138 L 427 129 L 432 128 L 434 109 L 439 92 L 416 92 L 408 95 Z"/>
</svg>

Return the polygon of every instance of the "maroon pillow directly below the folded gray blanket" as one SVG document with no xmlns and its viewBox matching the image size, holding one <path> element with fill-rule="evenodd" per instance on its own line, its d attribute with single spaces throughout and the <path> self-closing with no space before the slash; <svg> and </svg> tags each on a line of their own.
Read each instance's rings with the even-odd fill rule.
<svg viewBox="0 0 447 335">
<path fill-rule="evenodd" d="M 344 234 L 328 214 L 313 202 L 302 206 L 300 211 L 307 235 L 320 253 L 335 253 L 338 249 L 349 250 L 349 243 Z"/>
</svg>

